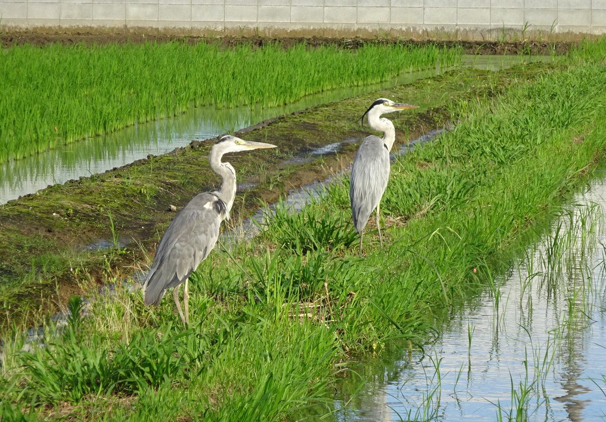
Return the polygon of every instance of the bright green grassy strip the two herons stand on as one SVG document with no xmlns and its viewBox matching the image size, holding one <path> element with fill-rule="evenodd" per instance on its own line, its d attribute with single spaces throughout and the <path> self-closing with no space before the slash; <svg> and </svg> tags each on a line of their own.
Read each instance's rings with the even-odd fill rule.
<svg viewBox="0 0 606 422">
<path fill-rule="evenodd" d="M 454 131 L 393 166 L 387 242 L 365 236 L 364 258 L 344 178 L 302 213 L 278 210 L 254 242 L 214 251 L 192 277 L 186 331 L 169 298 L 159 308 L 126 290 L 101 298 L 47 348 L 8 353 L 5 415 L 242 421 L 330 409 L 348 352 L 425 333 L 594 167 L 606 148 L 605 84 L 602 65 L 574 61 L 461 103 Z"/>
</svg>

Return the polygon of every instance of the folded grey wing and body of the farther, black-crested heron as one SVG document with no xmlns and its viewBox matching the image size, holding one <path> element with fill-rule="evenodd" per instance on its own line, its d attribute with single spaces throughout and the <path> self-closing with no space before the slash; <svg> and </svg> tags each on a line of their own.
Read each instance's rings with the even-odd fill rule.
<svg viewBox="0 0 606 422">
<path fill-rule="evenodd" d="M 349 198 L 356 231 L 361 233 L 378 206 L 389 178 L 389 151 L 383 140 L 370 135 L 362 141 L 351 167 Z"/>
</svg>

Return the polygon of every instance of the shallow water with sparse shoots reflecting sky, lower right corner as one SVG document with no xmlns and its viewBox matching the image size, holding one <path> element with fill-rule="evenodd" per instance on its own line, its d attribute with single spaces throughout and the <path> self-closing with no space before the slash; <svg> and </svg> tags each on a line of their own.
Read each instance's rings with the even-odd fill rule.
<svg viewBox="0 0 606 422">
<path fill-rule="evenodd" d="M 370 356 L 338 421 L 606 420 L 606 172 L 420 351 Z M 405 349 L 406 345 L 403 345 Z"/>
</svg>

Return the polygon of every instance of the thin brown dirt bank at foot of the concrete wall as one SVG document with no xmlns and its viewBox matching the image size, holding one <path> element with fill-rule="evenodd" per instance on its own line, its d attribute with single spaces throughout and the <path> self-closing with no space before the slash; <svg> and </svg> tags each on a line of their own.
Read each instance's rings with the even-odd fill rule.
<svg viewBox="0 0 606 422">
<path fill-rule="evenodd" d="M 124 44 L 127 42 L 170 42 L 182 41 L 188 44 L 198 44 L 199 42 L 218 42 L 225 47 L 232 47 L 239 44 L 251 44 L 260 47 L 264 44 L 280 42 L 284 47 L 290 47 L 300 42 L 311 47 L 319 47 L 322 45 L 337 45 L 342 48 L 358 48 L 365 44 L 413 44 L 427 45 L 437 44 L 446 47 L 461 47 L 465 54 L 566 54 L 575 44 L 568 41 L 433 41 L 424 40 L 416 41 L 412 39 L 366 39 L 362 37 L 204 37 L 204 36 L 178 36 L 174 34 L 161 33 L 112 33 L 104 30 L 94 32 L 36 32 L 36 31 L 19 31 L 0 34 L 0 44 L 3 47 L 11 47 L 13 45 L 33 44 L 46 45 L 53 42 L 70 45 L 78 42 L 86 44 L 105 44 L 118 43 Z"/>
</svg>

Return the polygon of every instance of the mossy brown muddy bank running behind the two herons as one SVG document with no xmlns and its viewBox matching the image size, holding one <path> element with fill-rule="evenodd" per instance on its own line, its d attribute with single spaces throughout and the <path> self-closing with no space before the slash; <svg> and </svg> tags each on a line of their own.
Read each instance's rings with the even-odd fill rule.
<svg viewBox="0 0 606 422">
<path fill-rule="evenodd" d="M 460 107 L 467 100 L 493 97 L 507 85 L 531 79 L 546 68 L 548 65 L 499 73 L 456 71 L 237 132 L 247 140 L 271 142 L 279 148 L 227 157 L 236 168 L 238 183 L 244 185 L 234 204 L 233 221 L 247 217 L 293 187 L 322 180 L 347 166 L 357 142 L 344 143 L 335 154 L 311 152 L 367 135 L 368 128 L 359 124 L 359 117 L 377 97 L 420 106 L 416 111 L 390 116 L 398 133 L 396 143 L 402 144 L 460 117 Z M 144 269 L 175 215 L 170 206 L 179 208 L 196 193 L 218 186 L 218 177 L 207 163 L 211 144 L 196 141 L 170 154 L 48 187 L 0 206 L 0 328 L 33 323 L 55 312 L 70 294 L 102 279 L 121 279 Z M 310 160 L 293 160 L 296 157 Z M 94 247 L 103 242 L 125 247 Z"/>
</svg>

